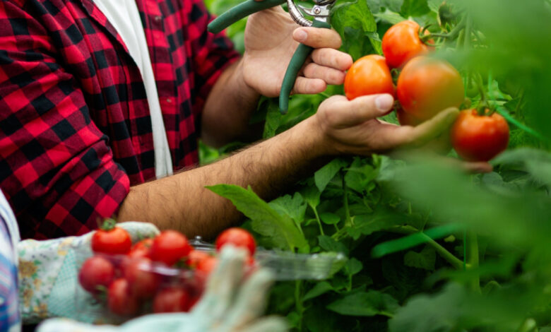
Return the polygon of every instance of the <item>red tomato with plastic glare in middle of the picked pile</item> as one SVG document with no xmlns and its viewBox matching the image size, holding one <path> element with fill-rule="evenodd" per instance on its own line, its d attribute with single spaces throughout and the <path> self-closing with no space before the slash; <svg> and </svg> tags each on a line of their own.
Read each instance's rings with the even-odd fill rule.
<svg viewBox="0 0 551 332">
<path fill-rule="evenodd" d="M 161 275 L 152 272 L 151 260 L 146 257 L 130 259 L 124 265 L 124 278 L 128 280 L 133 295 L 139 298 L 153 297 Z"/>
</svg>

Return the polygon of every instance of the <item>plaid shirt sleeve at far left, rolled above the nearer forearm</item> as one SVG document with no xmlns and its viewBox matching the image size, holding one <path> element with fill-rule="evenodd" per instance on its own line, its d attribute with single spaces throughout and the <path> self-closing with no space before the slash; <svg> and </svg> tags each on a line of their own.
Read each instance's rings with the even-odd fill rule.
<svg viewBox="0 0 551 332">
<path fill-rule="evenodd" d="M 0 2 L 0 186 L 23 238 L 88 232 L 129 192 L 49 37 L 20 6 Z"/>
</svg>

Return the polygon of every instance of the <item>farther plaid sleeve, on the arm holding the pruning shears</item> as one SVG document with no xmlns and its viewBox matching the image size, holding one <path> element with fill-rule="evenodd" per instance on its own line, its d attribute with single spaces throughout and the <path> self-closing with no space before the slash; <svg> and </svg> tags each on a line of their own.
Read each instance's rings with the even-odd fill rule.
<svg viewBox="0 0 551 332">
<path fill-rule="evenodd" d="M 192 0 L 188 33 L 193 52 L 195 75 L 194 108 L 203 109 L 204 102 L 224 69 L 239 59 L 239 53 L 225 32 L 213 34 L 207 25 L 214 19 L 203 0 Z"/>
</svg>

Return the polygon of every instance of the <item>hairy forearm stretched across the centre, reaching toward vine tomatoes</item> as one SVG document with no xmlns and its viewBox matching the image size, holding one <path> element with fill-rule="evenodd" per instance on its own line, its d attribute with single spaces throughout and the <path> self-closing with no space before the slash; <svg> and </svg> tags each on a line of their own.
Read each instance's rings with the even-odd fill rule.
<svg viewBox="0 0 551 332">
<path fill-rule="evenodd" d="M 226 198 L 205 188 L 214 184 L 251 186 L 269 198 L 308 172 L 326 153 L 311 119 L 213 164 L 131 187 L 119 221 L 140 220 L 187 236 L 212 237 L 240 218 Z"/>
</svg>

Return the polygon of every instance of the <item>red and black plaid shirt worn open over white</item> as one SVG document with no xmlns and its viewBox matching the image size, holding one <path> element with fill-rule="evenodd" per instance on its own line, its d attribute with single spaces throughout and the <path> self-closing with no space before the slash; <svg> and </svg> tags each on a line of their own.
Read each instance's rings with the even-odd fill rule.
<svg viewBox="0 0 551 332">
<path fill-rule="evenodd" d="M 201 0 L 136 3 L 174 170 L 194 165 L 201 109 L 238 54 Z M 93 1 L 0 1 L 0 187 L 22 237 L 97 227 L 154 162 L 141 74 Z"/>
</svg>

